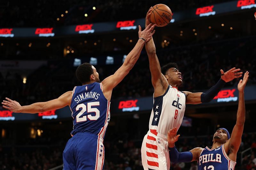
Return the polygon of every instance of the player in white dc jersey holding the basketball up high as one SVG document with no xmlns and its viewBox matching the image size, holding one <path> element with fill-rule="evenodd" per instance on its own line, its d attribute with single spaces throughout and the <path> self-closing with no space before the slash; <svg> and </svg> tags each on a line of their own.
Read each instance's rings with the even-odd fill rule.
<svg viewBox="0 0 256 170">
<path fill-rule="evenodd" d="M 146 27 L 150 24 L 148 17 L 151 8 L 146 16 Z M 154 87 L 154 104 L 149 120 L 149 130 L 141 146 L 142 165 L 144 170 L 169 170 L 167 133 L 169 129 L 174 127 L 180 128 L 185 105 L 211 101 L 225 85 L 225 82 L 241 77 L 242 72 L 237 72 L 240 69 L 236 68 L 225 73 L 220 70 L 220 80 L 207 92 L 180 92 L 178 87 L 182 84 L 182 77 L 177 64 L 168 63 L 161 68 L 156 56 L 153 38 L 145 46 Z"/>
</svg>

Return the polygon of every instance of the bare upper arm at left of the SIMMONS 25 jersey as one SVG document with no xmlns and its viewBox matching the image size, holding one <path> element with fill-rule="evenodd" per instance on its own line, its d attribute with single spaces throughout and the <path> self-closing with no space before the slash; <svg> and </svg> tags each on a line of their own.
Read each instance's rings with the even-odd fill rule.
<svg viewBox="0 0 256 170">
<path fill-rule="evenodd" d="M 44 102 L 44 111 L 59 109 L 65 106 L 70 106 L 72 99 L 72 91 L 62 94 L 59 98 Z"/>
</svg>

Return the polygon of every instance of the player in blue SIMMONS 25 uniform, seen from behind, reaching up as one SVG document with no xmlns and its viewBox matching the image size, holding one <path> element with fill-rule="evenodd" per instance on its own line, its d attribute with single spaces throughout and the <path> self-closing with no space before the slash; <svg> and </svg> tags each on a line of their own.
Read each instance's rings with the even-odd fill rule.
<svg viewBox="0 0 256 170">
<path fill-rule="evenodd" d="M 110 119 L 110 98 L 113 88 L 129 73 L 138 60 L 141 50 L 155 33 L 151 24 L 144 31 L 139 26 L 139 40 L 127 55 L 123 65 L 100 83 L 99 74 L 90 63 L 81 64 L 76 70 L 77 79 L 83 84 L 58 99 L 20 106 L 6 98 L 3 107 L 16 113 L 39 113 L 69 106 L 73 117 L 72 138 L 63 152 L 64 170 L 102 170 L 104 165 L 103 139 Z"/>
</svg>

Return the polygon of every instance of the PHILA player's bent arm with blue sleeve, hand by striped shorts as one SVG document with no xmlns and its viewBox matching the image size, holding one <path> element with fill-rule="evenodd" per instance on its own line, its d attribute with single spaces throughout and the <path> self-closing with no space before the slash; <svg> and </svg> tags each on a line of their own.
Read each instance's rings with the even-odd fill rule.
<svg viewBox="0 0 256 170">
<path fill-rule="evenodd" d="M 169 130 L 167 135 L 168 141 L 168 148 L 169 148 L 169 156 L 170 161 L 173 163 L 178 162 L 192 162 L 198 160 L 200 153 L 202 152 L 203 148 L 194 148 L 188 152 L 179 152 L 175 148 L 175 142 L 178 141 L 180 135 L 177 135 L 177 128 L 172 128 Z"/>
</svg>

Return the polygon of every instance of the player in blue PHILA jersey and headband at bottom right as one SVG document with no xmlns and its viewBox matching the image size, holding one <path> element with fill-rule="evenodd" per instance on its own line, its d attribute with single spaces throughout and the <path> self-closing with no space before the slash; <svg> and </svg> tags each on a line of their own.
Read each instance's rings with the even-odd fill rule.
<svg viewBox="0 0 256 170">
<path fill-rule="evenodd" d="M 178 141 L 177 128 L 168 132 L 168 146 L 171 162 L 192 162 L 197 161 L 198 170 L 234 170 L 236 165 L 236 154 L 241 144 L 241 137 L 245 122 L 244 88 L 249 78 L 246 71 L 243 80 L 240 80 L 237 89 L 239 91 L 238 110 L 236 114 L 236 125 L 233 128 L 231 137 L 225 128 L 217 129 L 213 135 L 211 149 L 194 148 L 189 152 L 178 152 L 174 143 Z"/>
</svg>

